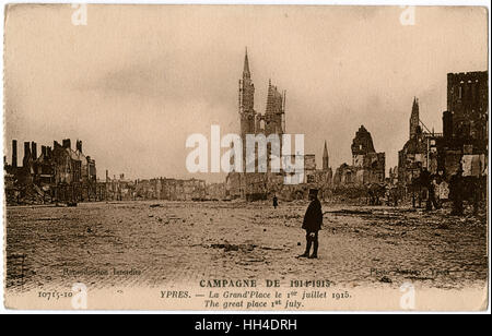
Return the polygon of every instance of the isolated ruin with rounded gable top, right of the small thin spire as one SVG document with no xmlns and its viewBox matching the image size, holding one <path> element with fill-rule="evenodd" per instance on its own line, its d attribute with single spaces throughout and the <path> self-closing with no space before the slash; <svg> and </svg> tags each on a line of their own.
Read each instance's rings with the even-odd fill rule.
<svg viewBox="0 0 492 336">
<path fill-rule="evenodd" d="M 361 125 L 352 141 L 352 165 L 342 164 L 335 172 L 336 185 L 384 183 L 385 153 L 376 153 L 371 133 Z"/>
</svg>

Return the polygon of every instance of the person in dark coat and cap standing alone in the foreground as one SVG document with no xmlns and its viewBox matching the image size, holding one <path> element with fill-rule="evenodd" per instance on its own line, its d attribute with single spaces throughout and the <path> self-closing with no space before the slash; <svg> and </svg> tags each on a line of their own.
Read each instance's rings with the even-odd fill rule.
<svg viewBox="0 0 492 336">
<path fill-rule="evenodd" d="M 306 230 L 306 251 L 298 257 L 318 257 L 318 231 L 321 229 L 323 212 L 321 203 L 318 200 L 318 190 L 309 190 L 309 206 L 304 215 L 303 229 Z M 313 254 L 309 255 L 311 247 L 313 247 Z"/>
</svg>

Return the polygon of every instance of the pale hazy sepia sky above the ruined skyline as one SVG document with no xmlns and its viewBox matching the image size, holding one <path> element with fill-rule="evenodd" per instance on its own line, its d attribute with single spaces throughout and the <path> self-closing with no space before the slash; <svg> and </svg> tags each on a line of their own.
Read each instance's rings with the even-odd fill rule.
<svg viewBox="0 0 492 336">
<path fill-rule="evenodd" d="M 12 139 L 52 145 L 82 140 L 104 178 L 204 178 L 185 147 L 192 133 L 239 132 L 238 80 L 245 48 L 265 112 L 268 80 L 286 91 L 286 132 L 305 134 L 321 166 L 351 164 L 363 124 L 386 167 L 409 137 L 413 97 L 436 132 L 446 74 L 488 70 L 483 8 L 87 5 L 73 25 L 70 4 L 13 5 L 5 13 L 4 153 Z M 40 151 L 40 149 L 38 149 Z M 210 160 L 209 160 L 210 161 Z"/>
</svg>

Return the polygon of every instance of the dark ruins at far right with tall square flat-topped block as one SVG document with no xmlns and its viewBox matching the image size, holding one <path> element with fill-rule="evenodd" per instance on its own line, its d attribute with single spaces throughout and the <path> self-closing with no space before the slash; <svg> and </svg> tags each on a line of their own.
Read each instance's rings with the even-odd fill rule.
<svg viewBox="0 0 492 336">
<path fill-rule="evenodd" d="M 449 180 L 461 168 L 465 177 L 481 177 L 488 166 L 488 72 L 447 74 L 447 110 L 443 133 L 422 123 L 419 101 L 410 117 L 410 139 L 398 155 L 398 182 L 409 185 L 420 172 L 442 172 Z"/>
</svg>

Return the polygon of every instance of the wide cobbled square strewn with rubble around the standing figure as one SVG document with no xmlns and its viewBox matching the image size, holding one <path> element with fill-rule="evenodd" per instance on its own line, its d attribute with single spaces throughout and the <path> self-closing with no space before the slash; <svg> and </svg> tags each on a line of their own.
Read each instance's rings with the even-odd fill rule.
<svg viewBox="0 0 492 336">
<path fill-rule="evenodd" d="M 324 204 L 318 260 L 304 251 L 307 202 L 130 202 L 7 208 L 7 287 L 168 286 L 201 279 L 316 279 L 338 286 L 483 287 L 483 211 Z M 470 213 L 470 209 L 467 209 Z"/>
</svg>

